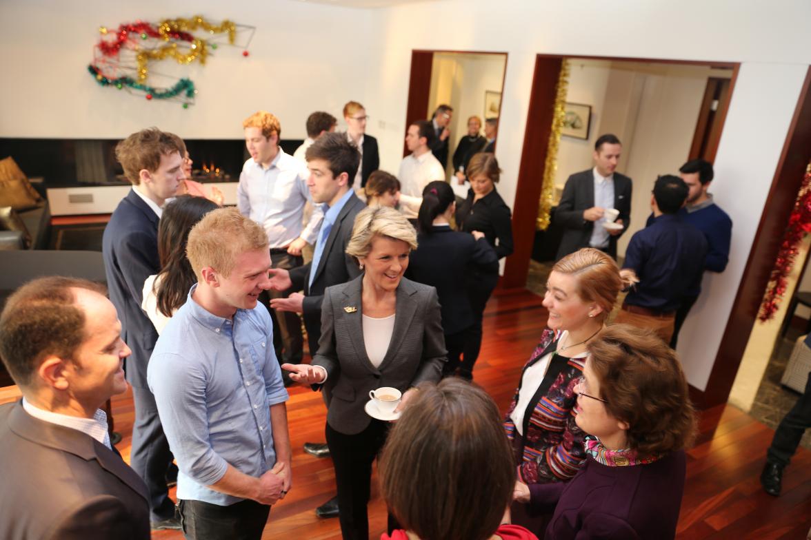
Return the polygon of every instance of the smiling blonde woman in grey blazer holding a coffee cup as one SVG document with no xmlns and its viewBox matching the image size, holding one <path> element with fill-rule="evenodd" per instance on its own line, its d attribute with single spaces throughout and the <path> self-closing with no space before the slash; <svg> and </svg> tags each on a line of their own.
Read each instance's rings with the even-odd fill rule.
<svg viewBox="0 0 811 540">
<path fill-rule="evenodd" d="M 400 410 L 419 383 L 440 380 L 447 360 L 436 289 L 403 278 L 416 247 L 414 227 L 397 210 L 362 210 L 346 253 L 363 274 L 324 292 L 312 364 L 282 365 L 294 381 L 329 392 L 327 444 L 346 540 L 369 538 L 371 463 L 388 432 L 388 422 L 364 410 L 370 390 L 400 390 Z M 389 517 L 389 531 L 394 525 Z"/>
</svg>

